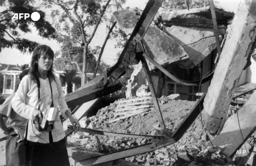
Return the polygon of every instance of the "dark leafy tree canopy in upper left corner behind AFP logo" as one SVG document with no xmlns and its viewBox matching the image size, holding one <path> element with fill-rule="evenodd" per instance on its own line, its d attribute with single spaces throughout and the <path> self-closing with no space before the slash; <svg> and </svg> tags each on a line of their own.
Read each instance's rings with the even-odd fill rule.
<svg viewBox="0 0 256 166">
<path fill-rule="evenodd" d="M 53 35 L 55 29 L 51 24 L 45 20 L 45 13 L 33 7 L 33 0 L 0 0 L 0 6 L 6 9 L 0 12 L 0 43 L 3 48 L 15 47 L 21 52 L 33 52 L 38 45 L 35 41 L 21 38 L 21 33 L 31 32 L 30 25 L 35 27 L 38 35 L 43 38 L 55 38 Z M 31 18 L 12 19 L 15 13 L 29 13 L 33 12 L 40 14 L 38 21 L 33 21 Z"/>
</svg>

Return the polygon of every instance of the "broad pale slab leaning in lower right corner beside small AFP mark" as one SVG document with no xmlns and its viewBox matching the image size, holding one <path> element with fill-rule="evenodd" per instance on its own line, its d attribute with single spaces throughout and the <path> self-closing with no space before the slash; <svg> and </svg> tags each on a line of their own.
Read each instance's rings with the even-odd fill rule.
<svg viewBox="0 0 256 166">
<path fill-rule="evenodd" d="M 256 130 L 256 92 L 251 98 L 238 110 L 238 119 L 244 142 Z M 241 131 L 238 125 L 237 114 L 233 114 L 225 123 L 220 134 L 212 140 L 213 145 L 222 148 L 221 152 L 230 158 L 236 154 L 236 151 L 243 145 Z M 248 150 L 247 150 L 248 151 Z"/>
</svg>

